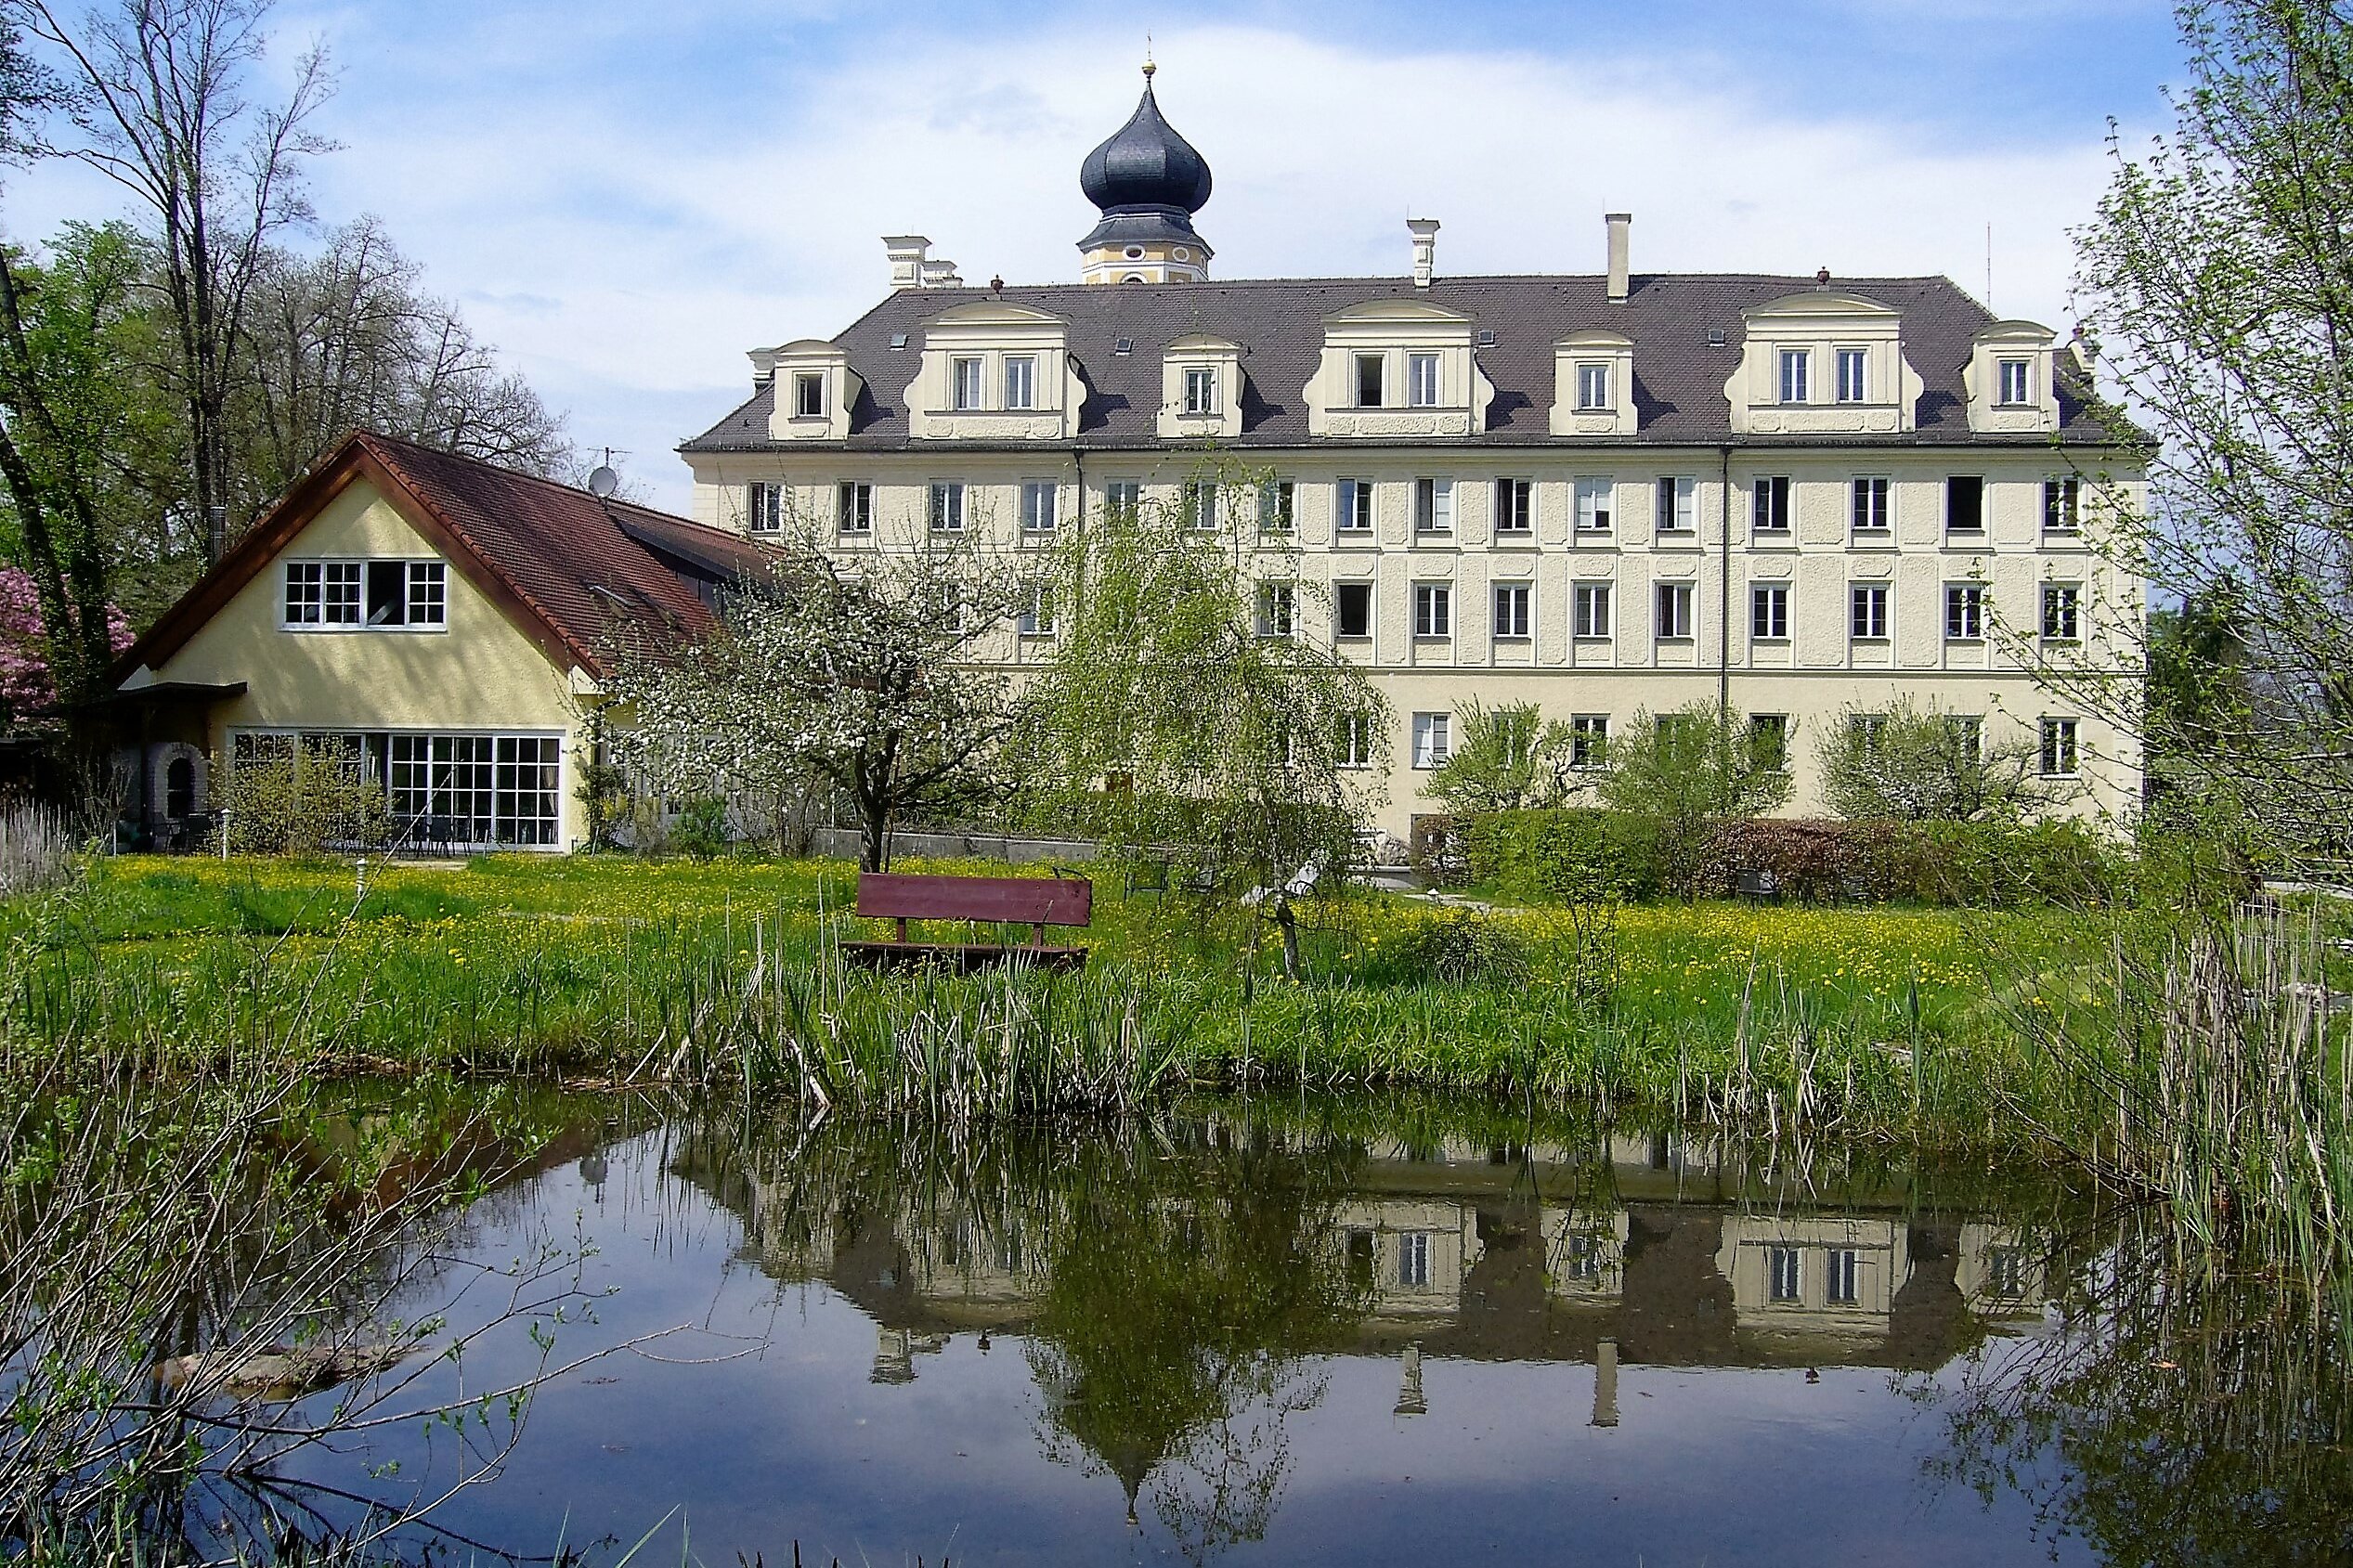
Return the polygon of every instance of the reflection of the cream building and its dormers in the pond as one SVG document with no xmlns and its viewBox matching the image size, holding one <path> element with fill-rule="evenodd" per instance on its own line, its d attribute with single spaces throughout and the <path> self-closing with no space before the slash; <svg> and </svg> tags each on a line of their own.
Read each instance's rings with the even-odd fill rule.
<svg viewBox="0 0 2353 1568">
<path fill-rule="evenodd" d="M 2033 1239 L 1937 1215 L 1906 1178 L 1821 1190 L 1819 1173 L 1722 1143 L 1398 1140 L 1362 1147 L 1348 1171 L 1301 1241 L 1365 1305 L 1362 1354 L 1419 1345 L 1598 1363 L 1609 1345 L 1612 1366 L 1934 1368 L 1986 1331 L 2035 1319 L 2045 1295 Z M 885 1382 L 913 1375 L 936 1335 L 1028 1326 L 1068 1222 L 1014 1197 L 965 1208 L 885 1192 L 819 1199 L 746 1168 L 711 1190 L 744 1215 L 769 1274 L 826 1281 L 875 1319 Z"/>
</svg>

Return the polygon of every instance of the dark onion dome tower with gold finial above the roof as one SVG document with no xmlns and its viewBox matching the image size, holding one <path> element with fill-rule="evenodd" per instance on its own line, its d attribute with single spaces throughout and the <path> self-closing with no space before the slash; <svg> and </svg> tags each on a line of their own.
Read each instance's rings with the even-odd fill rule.
<svg viewBox="0 0 2353 1568">
<path fill-rule="evenodd" d="M 1209 244 L 1193 233 L 1193 214 L 1209 202 L 1209 160 L 1160 118 L 1151 63 L 1136 113 L 1078 165 L 1078 188 L 1104 214 L 1078 242 L 1087 282 L 1200 282 L 1209 275 Z"/>
</svg>

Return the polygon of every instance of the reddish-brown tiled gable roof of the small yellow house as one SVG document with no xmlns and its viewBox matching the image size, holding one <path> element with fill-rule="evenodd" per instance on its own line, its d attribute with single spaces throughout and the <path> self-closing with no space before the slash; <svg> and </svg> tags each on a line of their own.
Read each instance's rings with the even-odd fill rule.
<svg viewBox="0 0 2353 1568">
<path fill-rule="evenodd" d="M 664 557 L 678 557 L 706 578 L 755 571 L 765 562 L 758 548 L 722 529 L 605 501 L 480 458 L 360 433 L 287 491 L 165 611 L 122 656 L 122 670 L 160 668 L 172 658 L 334 496 L 362 477 L 551 663 L 591 675 L 607 672 L 602 656 L 616 642 L 666 644 L 711 628 L 694 581 Z"/>
</svg>

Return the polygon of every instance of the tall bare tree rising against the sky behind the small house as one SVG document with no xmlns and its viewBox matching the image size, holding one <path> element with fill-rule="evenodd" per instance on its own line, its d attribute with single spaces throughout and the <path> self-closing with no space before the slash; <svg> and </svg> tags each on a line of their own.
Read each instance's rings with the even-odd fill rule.
<svg viewBox="0 0 2353 1568">
<path fill-rule="evenodd" d="M 56 150 L 122 186 L 155 226 L 176 329 L 198 520 L 233 496 L 228 402 L 271 235 L 311 216 L 306 158 L 329 150 L 311 118 L 332 92 L 327 52 L 294 61 L 273 106 L 247 96 L 271 0 L 108 0 L 61 14 L 12 0 L 73 89 Z"/>
</svg>

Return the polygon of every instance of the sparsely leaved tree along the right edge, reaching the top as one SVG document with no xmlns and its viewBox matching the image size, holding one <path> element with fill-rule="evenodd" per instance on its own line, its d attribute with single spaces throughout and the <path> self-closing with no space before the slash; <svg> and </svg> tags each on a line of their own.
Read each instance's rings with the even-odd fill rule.
<svg viewBox="0 0 2353 1568">
<path fill-rule="evenodd" d="M 2327 0 L 2177 14 L 2174 129 L 2115 146 L 2075 235 L 2094 414 L 2151 480 L 2146 515 L 2101 491 L 2087 524 L 2158 595 L 2231 604 L 2249 701 L 2186 693 L 2165 651 L 2146 710 L 2139 679 L 2071 684 L 2146 722 L 2158 757 L 2198 757 L 2219 816 L 2315 870 L 2353 820 L 2353 19 Z"/>
</svg>

